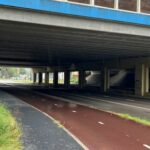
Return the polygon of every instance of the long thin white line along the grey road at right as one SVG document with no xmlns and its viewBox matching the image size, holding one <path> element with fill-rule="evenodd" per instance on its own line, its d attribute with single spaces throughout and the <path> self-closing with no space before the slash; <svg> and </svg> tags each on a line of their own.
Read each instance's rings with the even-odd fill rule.
<svg viewBox="0 0 150 150">
<path fill-rule="evenodd" d="M 111 103 L 111 104 L 117 104 L 117 105 L 122 105 L 122 106 L 133 107 L 133 108 L 138 108 L 138 109 L 143 109 L 143 110 L 146 110 L 146 111 L 150 111 L 149 108 L 144 108 L 144 107 L 140 107 L 140 106 L 123 104 L 123 103 L 119 103 L 119 102 L 112 102 L 112 101 L 101 99 L 101 98 L 100 99 L 92 98 L 92 97 L 87 97 L 87 96 L 81 96 L 81 95 L 78 95 L 78 94 L 75 94 L 75 95 L 77 95 L 78 97 L 81 97 L 81 98 L 86 98 L 86 99 L 91 99 L 91 100 L 98 100 L 98 101 L 107 102 L 107 103 Z"/>
</svg>

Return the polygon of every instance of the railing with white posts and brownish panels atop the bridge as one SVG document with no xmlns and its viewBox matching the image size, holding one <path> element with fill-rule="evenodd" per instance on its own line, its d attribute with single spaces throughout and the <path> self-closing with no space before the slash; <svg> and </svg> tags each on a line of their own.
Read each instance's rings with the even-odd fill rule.
<svg viewBox="0 0 150 150">
<path fill-rule="evenodd" d="M 117 10 L 126 10 L 150 14 L 150 0 L 63 0 L 75 4 L 100 6 Z"/>
</svg>

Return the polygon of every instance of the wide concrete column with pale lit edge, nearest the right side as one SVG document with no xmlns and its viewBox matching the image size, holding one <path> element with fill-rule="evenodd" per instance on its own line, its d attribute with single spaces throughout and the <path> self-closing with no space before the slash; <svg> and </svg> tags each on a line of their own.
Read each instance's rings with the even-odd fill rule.
<svg viewBox="0 0 150 150">
<path fill-rule="evenodd" d="M 145 94 L 145 67 L 144 64 L 135 67 L 135 95 Z"/>
</svg>

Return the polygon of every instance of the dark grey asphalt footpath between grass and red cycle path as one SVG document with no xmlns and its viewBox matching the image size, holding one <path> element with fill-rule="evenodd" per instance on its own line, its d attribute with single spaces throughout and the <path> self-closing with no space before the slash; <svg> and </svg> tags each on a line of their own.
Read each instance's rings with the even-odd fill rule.
<svg viewBox="0 0 150 150">
<path fill-rule="evenodd" d="M 22 124 L 24 150 L 83 149 L 51 119 L 22 100 L 0 91 L 0 103 L 5 103 Z"/>
</svg>

